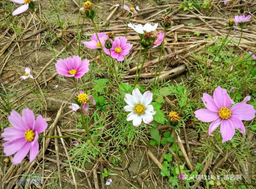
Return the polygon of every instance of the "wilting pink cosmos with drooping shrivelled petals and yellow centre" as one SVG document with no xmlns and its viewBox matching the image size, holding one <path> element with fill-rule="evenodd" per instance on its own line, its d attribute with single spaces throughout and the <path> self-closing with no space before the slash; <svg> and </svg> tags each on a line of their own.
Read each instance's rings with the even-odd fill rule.
<svg viewBox="0 0 256 189">
<path fill-rule="evenodd" d="M 81 109 L 82 109 L 83 113 L 85 115 L 89 115 L 89 112 L 88 112 L 88 109 L 89 109 L 88 102 L 93 102 L 93 105 L 96 104 L 93 96 L 85 94 L 84 91 L 76 92 L 75 95 L 76 95 L 76 97 L 78 99 L 78 102 L 81 103 Z"/>
</svg>

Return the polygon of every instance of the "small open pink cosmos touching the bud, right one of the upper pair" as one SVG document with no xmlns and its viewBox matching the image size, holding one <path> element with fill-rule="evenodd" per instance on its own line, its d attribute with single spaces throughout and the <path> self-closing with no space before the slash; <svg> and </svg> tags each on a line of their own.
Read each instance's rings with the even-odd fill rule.
<svg viewBox="0 0 256 189">
<path fill-rule="evenodd" d="M 112 48 L 110 48 L 112 58 L 116 58 L 118 61 L 123 61 L 124 56 L 129 54 L 129 50 L 131 50 L 131 43 L 127 43 L 127 39 L 125 37 L 115 38 Z M 104 51 L 107 55 L 109 55 L 109 50 L 104 48 Z"/>
</svg>

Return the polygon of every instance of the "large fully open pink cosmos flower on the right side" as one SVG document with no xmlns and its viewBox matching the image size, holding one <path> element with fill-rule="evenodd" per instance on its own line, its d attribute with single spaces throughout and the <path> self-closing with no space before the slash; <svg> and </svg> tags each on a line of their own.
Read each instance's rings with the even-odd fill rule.
<svg viewBox="0 0 256 189">
<path fill-rule="evenodd" d="M 222 143 L 233 138 L 235 129 L 246 134 L 241 120 L 249 121 L 255 118 L 255 109 L 252 105 L 246 104 L 251 99 L 250 96 L 231 107 L 233 100 L 230 99 L 225 89 L 218 86 L 213 93 L 213 98 L 204 93 L 201 99 L 207 109 L 195 111 L 196 118 L 204 122 L 214 121 L 209 127 L 209 135 L 211 136 L 212 131 L 221 125 Z"/>
</svg>

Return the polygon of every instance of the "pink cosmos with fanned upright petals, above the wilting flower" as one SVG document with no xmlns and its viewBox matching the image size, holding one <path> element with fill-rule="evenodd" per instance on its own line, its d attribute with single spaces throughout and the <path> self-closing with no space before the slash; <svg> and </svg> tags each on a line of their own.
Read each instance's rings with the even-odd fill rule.
<svg viewBox="0 0 256 189">
<path fill-rule="evenodd" d="M 89 71 L 90 61 L 85 59 L 81 62 L 82 58 L 79 56 L 73 56 L 65 58 L 64 60 L 57 60 L 57 64 L 55 64 L 56 71 L 58 74 L 67 76 L 67 77 L 75 77 L 80 78 L 85 73 Z"/>
</svg>

